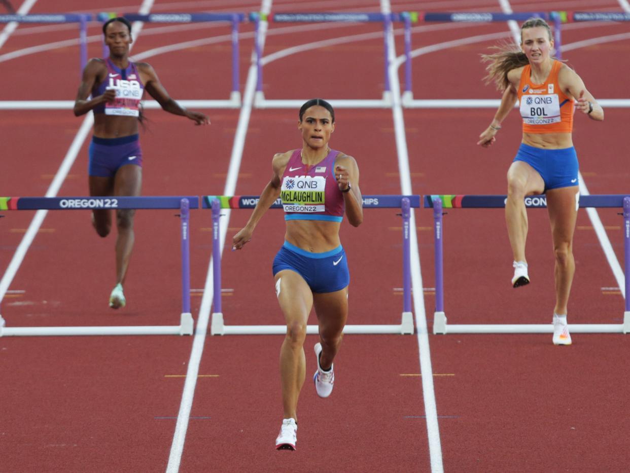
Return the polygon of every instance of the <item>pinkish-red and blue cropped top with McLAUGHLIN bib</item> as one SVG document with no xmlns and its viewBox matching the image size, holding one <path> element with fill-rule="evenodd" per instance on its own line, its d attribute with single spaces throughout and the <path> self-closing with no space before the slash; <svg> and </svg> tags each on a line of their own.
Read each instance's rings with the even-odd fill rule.
<svg viewBox="0 0 630 473">
<path fill-rule="evenodd" d="M 335 179 L 332 150 L 312 166 L 302 162 L 302 150 L 296 149 L 282 174 L 280 199 L 285 220 L 329 220 L 341 222 L 345 203 Z"/>
</svg>

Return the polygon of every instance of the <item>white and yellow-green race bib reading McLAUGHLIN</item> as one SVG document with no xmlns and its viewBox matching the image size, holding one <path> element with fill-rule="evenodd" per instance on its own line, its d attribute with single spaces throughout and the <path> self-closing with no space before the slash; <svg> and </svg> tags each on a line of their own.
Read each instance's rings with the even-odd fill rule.
<svg viewBox="0 0 630 473">
<path fill-rule="evenodd" d="M 323 176 L 285 177 L 280 198 L 285 212 L 324 212 L 326 179 Z"/>
</svg>

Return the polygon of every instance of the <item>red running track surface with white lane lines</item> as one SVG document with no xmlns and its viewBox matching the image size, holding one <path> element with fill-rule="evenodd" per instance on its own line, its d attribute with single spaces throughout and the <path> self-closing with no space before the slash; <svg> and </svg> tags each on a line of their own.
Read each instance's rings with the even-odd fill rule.
<svg viewBox="0 0 630 473">
<path fill-rule="evenodd" d="M 616 6 L 617 5 L 617 6 Z M 169 3 L 152 11 L 190 10 Z M 465 8 L 464 8 L 465 6 Z M 515 11 L 529 5 L 514 3 Z M 80 11 L 83 4 L 64 0 L 56 11 Z M 93 6 L 98 11 L 96 6 Z M 111 4 L 106 9 L 114 9 Z M 120 6 L 137 11 L 137 6 Z M 201 2 L 200 9 L 229 10 L 227 3 Z M 260 5 L 239 4 L 242 11 Z M 306 3 L 273 3 L 273 11 L 310 9 Z M 498 11 L 498 4 L 440 4 L 439 10 Z M 551 8 L 551 7 L 550 7 Z M 556 9 L 578 9 L 558 2 Z M 599 11 L 619 9 L 607 2 Z M 105 6 L 103 6 L 105 9 Z M 323 5 L 330 11 L 378 11 L 379 3 L 360 1 Z M 394 11 L 411 9 L 394 2 Z M 49 13 L 51 4 L 35 4 L 32 13 Z M 377 25 L 353 25 L 312 31 L 270 25 L 265 54 L 287 47 L 362 33 Z M 295 26 L 295 25 L 291 25 Z M 450 26 L 450 25 L 449 25 Z M 18 31 L 26 30 L 20 28 Z M 171 33 L 146 25 L 136 52 L 208 35 L 220 28 L 185 28 Z M 278 31 L 275 31 L 278 30 Z M 159 31 L 159 30 L 158 30 Z M 251 25 L 243 25 L 245 36 Z M 417 30 L 414 47 L 473 35 L 506 31 L 505 24 L 466 25 Z M 566 28 L 565 44 L 627 31 L 626 25 Z M 282 33 L 282 34 L 277 34 Z M 98 35 L 98 26 L 89 34 Z M 74 31 L 13 35 L 0 54 L 42 42 L 73 38 Z M 478 54 L 490 45 L 472 43 L 414 60 L 415 98 L 496 98 L 483 86 Z M 241 42 L 241 81 L 251 54 L 251 37 Z M 597 98 L 623 98 L 625 72 L 620 61 L 626 42 L 611 42 L 567 52 Z M 402 52 L 401 38 L 396 50 Z M 379 98 L 382 91 L 382 39 L 342 43 L 309 50 L 265 67 L 266 98 Z M 100 55 L 95 43 L 91 55 Z M 47 69 L 76 70 L 76 48 L 25 56 L 3 65 L 0 100 L 69 100 L 74 72 L 63 84 L 36 83 L 33 74 Z M 202 59 L 200 59 L 202 58 Z M 224 71 L 229 43 L 156 55 L 147 59 L 175 98 L 225 99 Z M 610 66 L 608 65 L 610 61 Z M 598 67 L 593 67 L 597 64 Z M 612 66 L 614 64 L 614 66 Z M 324 69 L 324 74 L 313 74 Z M 601 68 L 617 69 L 602 74 Z M 192 69 L 190 77 L 181 71 Z M 469 71 L 464 79 L 458 74 Z M 361 80 L 357 80 L 361 77 Z M 402 76 L 401 76 L 402 77 Z M 472 80 L 466 80 L 471 77 Z M 243 85 L 244 86 L 244 85 Z M 476 137 L 494 112 L 481 110 L 404 110 L 414 193 L 503 193 L 505 171 L 519 140 L 516 114 L 508 118 L 491 150 L 476 147 Z M 591 193 L 624 193 L 623 142 L 626 109 L 607 109 L 604 123 L 576 117 L 575 145 Z M 147 111 L 149 129 L 142 136 L 147 157 L 145 195 L 218 194 L 226 186 L 238 110 L 209 111 L 212 126 L 200 130 L 181 118 Z M 364 193 L 400 193 L 391 110 L 338 110 L 333 147 L 355 156 Z M 299 146 L 290 139 L 297 110 L 253 110 L 236 185 L 237 194 L 260 193 L 270 175 L 273 153 Z M 80 118 L 69 111 L 5 111 L 2 135 L 9 137 L 0 174 L 0 195 L 43 195 L 76 134 Z M 37 137 L 37 139 L 33 139 Z M 462 150 L 464 152 L 462 152 Z M 86 193 L 86 145 L 64 181 L 60 195 Z M 8 166 L 6 165 L 8 164 Z M 36 172 L 33 172 L 36 169 Z M 621 217 L 599 212 L 617 258 L 622 260 Z M 367 210 L 358 229 L 343 226 L 352 284 L 350 323 L 396 323 L 400 287 L 400 219 L 389 210 Z M 0 268 L 3 273 L 30 223 L 30 212 L 6 214 L 0 221 Z M 248 218 L 235 211 L 231 237 Z M 196 211 L 191 220 L 192 287 L 203 288 L 210 259 L 210 215 Z M 433 283 L 432 214 L 416 211 L 423 286 Z M 614 290 L 590 220 L 580 211 L 575 237 L 578 271 L 570 322 L 619 323 L 623 299 Z M 95 236 L 84 212 L 50 212 L 26 254 L 2 305 L 11 326 L 173 324 L 180 311 L 178 224 L 168 211 L 137 215 L 137 246 L 123 312 L 106 307 L 113 279 L 113 239 Z M 446 310 L 453 323 L 544 323 L 553 306 L 551 239 L 544 212 L 530 212 L 528 259 L 532 285 L 512 290 L 510 249 L 499 210 L 452 210 L 445 217 Z M 223 298 L 228 324 L 279 324 L 270 263 L 282 243 L 280 212 L 271 211 L 246 250 L 226 251 Z M 612 293 L 611 293 L 612 292 Z M 201 297 L 193 297 L 198 319 Z M 227 295 L 231 294 L 231 295 Z M 434 306 L 426 291 L 429 329 Z M 549 335 L 430 336 L 435 398 L 446 471 L 621 471 L 629 462 L 625 432 L 627 338 L 578 334 L 574 345 L 558 348 Z M 0 338 L 3 435 L 0 471 L 164 471 L 180 409 L 183 375 L 192 338 L 72 337 Z M 225 336 L 205 340 L 190 412 L 180 471 L 429 471 L 427 425 L 419 382 L 415 336 L 348 336 L 336 360 L 335 395 L 314 395 L 309 380 L 299 404 L 297 452 L 276 452 L 273 439 L 281 418 L 277 372 L 281 336 Z M 305 349 L 313 362 L 309 336 Z M 309 373 L 307 373 L 309 374 Z"/>
</svg>

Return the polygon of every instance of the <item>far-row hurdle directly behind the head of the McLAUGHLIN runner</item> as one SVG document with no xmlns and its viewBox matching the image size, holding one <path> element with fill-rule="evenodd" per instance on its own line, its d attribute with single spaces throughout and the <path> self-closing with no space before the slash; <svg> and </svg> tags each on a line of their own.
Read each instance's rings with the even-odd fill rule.
<svg viewBox="0 0 630 473">
<path fill-rule="evenodd" d="M 400 21 L 401 16 L 397 13 L 251 13 L 249 20 L 255 22 L 255 57 L 258 69 L 258 81 L 256 82 L 256 93 L 254 106 L 256 108 L 300 108 L 306 100 L 266 100 L 263 93 L 263 66 L 270 62 L 270 58 L 263 58 L 262 46 L 260 44 L 258 31 L 261 21 L 274 21 L 275 23 L 377 23 L 383 24 L 384 43 L 384 91 L 381 99 L 364 100 L 328 100 L 335 108 L 389 108 L 392 105 L 391 87 L 389 84 L 389 32 L 392 21 Z"/>
</svg>

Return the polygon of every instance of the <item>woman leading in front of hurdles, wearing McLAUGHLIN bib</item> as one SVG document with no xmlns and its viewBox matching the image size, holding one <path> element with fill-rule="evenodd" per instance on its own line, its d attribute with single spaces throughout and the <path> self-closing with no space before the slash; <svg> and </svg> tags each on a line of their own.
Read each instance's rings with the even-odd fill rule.
<svg viewBox="0 0 630 473">
<path fill-rule="evenodd" d="M 341 345 L 348 316 L 348 261 L 341 248 L 339 228 L 343 214 L 351 225 L 363 221 L 358 187 L 358 166 L 352 156 L 328 147 L 335 130 L 335 111 L 321 99 L 307 101 L 297 128 L 302 147 L 273 157 L 273 175 L 247 225 L 233 239 L 241 249 L 266 210 L 280 197 L 285 211 L 285 242 L 273 260 L 273 277 L 287 335 L 280 349 L 280 377 L 284 419 L 276 448 L 295 450 L 297 398 L 306 373 L 304 339 L 311 308 L 319 322 L 315 345 L 317 394 L 333 390 L 333 360 Z"/>
</svg>

